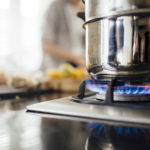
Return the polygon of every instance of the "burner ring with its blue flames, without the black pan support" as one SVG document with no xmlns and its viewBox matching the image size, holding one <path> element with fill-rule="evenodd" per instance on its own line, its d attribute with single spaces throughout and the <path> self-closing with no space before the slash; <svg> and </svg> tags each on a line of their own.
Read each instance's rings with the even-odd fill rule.
<svg viewBox="0 0 150 150">
<path fill-rule="evenodd" d="M 98 100 L 105 100 L 107 84 L 101 81 L 87 80 L 86 87 L 96 92 Z M 113 90 L 114 101 L 150 101 L 150 84 L 117 83 Z"/>
</svg>

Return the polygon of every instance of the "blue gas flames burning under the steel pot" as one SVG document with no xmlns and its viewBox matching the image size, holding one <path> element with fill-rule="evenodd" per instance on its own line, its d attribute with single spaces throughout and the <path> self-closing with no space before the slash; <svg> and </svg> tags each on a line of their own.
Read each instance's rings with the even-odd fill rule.
<svg viewBox="0 0 150 150">
<path fill-rule="evenodd" d="M 101 84 L 101 82 L 95 82 L 91 80 L 86 81 L 86 87 L 88 90 L 97 93 L 105 93 L 107 85 Z M 116 86 L 114 92 L 118 94 L 126 95 L 148 95 L 150 94 L 150 84 L 144 85 L 130 85 L 125 83 L 124 85 Z"/>
</svg>

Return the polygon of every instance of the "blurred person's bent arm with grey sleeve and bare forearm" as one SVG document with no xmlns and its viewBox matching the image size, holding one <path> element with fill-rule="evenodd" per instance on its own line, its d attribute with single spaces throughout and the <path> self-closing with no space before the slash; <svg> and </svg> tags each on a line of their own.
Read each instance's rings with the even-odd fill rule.
<svg viewBox="0 0 150 150">
<path fill-rule="evenodd" d="M 59 3 L 58 3 L 59 2 Z M 69 50 L 63 49 L 61 46 L 56 44 L 57 42 L 57 31 L 59 28 L 59 15 L 62 13 L 59 9 L 60 1 L 54 1 L 46 12 L 46 16 L 42 26 L 42 48 L 43 52 L 50 55 L 51 57 L 72 62 L 77 65 L 84 65 L 85 60 L 83 56 L 76 56 Z"/>
</svg>

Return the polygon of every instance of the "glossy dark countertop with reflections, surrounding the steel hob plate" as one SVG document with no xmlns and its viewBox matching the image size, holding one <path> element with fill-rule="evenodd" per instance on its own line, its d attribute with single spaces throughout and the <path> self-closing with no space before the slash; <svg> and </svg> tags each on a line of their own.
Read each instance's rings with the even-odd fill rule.
<svg viewBox="0 0 150 150">
<path fill-rule="evenodd" d="M 70 96 L 55 93 L 0 102 L 0 150 L 150 150 L 150 129 L 42 118 L 28 105 Z"/>
</svg>

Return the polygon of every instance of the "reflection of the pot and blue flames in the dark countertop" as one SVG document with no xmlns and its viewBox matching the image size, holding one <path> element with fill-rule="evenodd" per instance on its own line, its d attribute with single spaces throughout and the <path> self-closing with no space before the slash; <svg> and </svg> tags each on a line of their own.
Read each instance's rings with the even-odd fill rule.
<svg viewBox="0 0 150 150">
<path fill-rule="evenodd" d="M 86 150 L 149 150 L 150 130 L 87 124 L 91 131 L 86 141 Z"/>
</svg>

